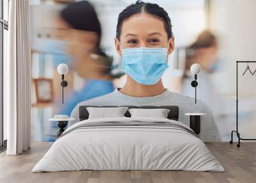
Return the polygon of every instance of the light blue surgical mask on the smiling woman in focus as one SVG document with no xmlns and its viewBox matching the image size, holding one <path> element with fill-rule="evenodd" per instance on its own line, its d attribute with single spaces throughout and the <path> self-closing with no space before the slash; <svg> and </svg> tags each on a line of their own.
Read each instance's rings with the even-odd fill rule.
<svg viewBox="0 0 256 183">
<path fill-rule="evenodd" d="M 137 83 L 156 84 L 168 68 L 166 48 L 122 49 L 122 69 Z"/>
</svg>

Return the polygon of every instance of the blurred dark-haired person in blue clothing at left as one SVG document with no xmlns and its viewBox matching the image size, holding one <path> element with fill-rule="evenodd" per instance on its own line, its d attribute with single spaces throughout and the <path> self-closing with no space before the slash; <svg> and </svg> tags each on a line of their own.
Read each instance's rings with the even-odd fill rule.
<svg viewBox="0 0 256 183">
<path fill-rule="evenodd" d="M 68 93 L 58 111 L 70 115 L 79 102 L 113 92 L 113 78 L 118 76 L 111 74 L 112 58 L 100 50 L 101 26 L 92 4 L 88 1 L 69 4 L 60 12 L 58 24 L 72 57 L 71 68 L 82 79 L 78 83 L 80 90 Z"/>
</svg>

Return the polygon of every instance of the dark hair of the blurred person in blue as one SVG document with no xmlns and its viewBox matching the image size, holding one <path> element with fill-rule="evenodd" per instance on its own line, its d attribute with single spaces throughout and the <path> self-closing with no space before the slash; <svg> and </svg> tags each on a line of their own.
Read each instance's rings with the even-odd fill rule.
<svg viewBox="0 0 256 183">
<path fill-rule="evenodd" d="M 60 12 L 60 15 L 71 28 L 97 33 L 99 36 L 97 46 L 99 46 L 101 38 L 100 21 L 91 3 L 79 1 L 69 4 Z"/>
</svg>

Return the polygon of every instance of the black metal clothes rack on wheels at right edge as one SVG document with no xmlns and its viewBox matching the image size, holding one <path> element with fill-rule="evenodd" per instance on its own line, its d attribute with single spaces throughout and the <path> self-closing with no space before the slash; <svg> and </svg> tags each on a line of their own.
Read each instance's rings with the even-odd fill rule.
<svg viewBox="0 0 256 183">
<path fill-rule="evenodd" d="M 231 140 L 230 143 L 233 143 L 233 132 L 236 133 L 238 138 L 238 144 L 237 147 L 240 147 L 240 140 L 256 140 L 256 139 L 246 139 L 241 138 L 239 131 L 238 131 L 238 64 L 239 63 L 256 63 L 256 61 L 236 61 L 236 131 L 231 131 Z"/>
</svg>

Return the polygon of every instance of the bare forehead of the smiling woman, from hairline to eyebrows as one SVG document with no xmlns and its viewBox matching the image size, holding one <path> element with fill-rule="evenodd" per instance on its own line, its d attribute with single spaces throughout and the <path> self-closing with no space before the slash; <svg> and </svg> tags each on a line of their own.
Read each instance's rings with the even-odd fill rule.
<svg viewBox="0 0 256 183">
<path fill-rule="evenodd" d="M 127 34 L 146 36 L 156 32 L 167 36 L 163 20 L 148 13 L 138 13 L 124 20 L 121 29 L 121 37 Z"/>
</svg>

